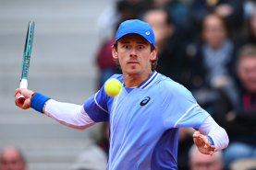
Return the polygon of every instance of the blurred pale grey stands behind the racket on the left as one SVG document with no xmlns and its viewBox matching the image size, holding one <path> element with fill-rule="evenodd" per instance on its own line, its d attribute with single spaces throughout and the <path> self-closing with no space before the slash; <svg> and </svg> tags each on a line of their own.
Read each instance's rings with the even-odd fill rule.
<svg viewBox="0 0 256 170">
<path fill-rule="evenodd" d="M 15 106 L 28 23 L 35 22 L 29 88 L 81 105 L 97 90 L 93 59 L 101 40 L 97 19 L 104 7 L 113 3 L 0 1 L 0 148 L 21 148 L 30 170 L 68 169 L 91 135 L 97 138 L 99 128 L 73 130 L 32 109 Z"/>
</svg>

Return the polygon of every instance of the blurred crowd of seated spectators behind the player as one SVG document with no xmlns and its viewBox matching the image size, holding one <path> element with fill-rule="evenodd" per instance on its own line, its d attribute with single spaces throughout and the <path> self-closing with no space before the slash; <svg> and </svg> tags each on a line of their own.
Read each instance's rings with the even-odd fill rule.
<svg viewBox="0 0 256 170">
<path fill-rule="evenodd" d="M 241 159 L 256 162 L 256 1 L 117 0 L 106 6 L 98 19 L 99 87 L 120 74 L 111 46 L 118 25 L 135 18 L 152 26 L 156 70 L 186 86 L 229 135 L 228 148 L 217 156 L 222 164 L 205 169 L 228 169 Z M 179 170 L 201 169 L 189 166 L 190 133 L 180 130 Z"/>
</svg>

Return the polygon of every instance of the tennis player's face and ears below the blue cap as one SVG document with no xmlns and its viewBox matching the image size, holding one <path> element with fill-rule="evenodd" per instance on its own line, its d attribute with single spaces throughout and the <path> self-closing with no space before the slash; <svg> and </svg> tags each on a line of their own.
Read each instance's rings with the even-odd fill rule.
<svg viewBox="0 0 256 170">
<path fill-rule="evenodd" d="M 150 43 L 138 34 L 128 34 L 113 47 L 114 59 L 119 60 L 123 74 L 141 75 L 152 72 L 151 61 L 156 59 L 156 50 L 151 51 Z"/>
</svg>

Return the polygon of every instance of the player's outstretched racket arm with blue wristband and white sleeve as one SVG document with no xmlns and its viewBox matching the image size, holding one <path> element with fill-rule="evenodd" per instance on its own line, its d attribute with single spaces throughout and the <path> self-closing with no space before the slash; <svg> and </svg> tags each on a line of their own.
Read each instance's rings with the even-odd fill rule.
<svg viewBox="0 0 256 170">
<path fill-rule="evenodd" d="M 18 103 L 18 96 L 20 95 L 25 97 L 24 104 Z M 83 106 L 57 102 L 50 97 L 24 88 L 16 89 L 15 97 L 15 103 L 19 108 L 34 108 L 71 128 L 83 130 L 95 124 L 95 121 L 84 111 Z"/>
</svg>

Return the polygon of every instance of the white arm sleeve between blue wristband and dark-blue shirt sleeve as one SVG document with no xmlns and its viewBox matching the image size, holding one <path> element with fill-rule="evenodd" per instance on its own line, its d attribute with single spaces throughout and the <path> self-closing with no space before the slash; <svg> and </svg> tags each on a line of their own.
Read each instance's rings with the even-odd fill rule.
<svg viewBox="0 0 256 170">
<path fill-rule="evenodd" d="M 63 125 L 83 130 L 95 124 L 84 108 L 80 105 L 57 102 L 53 99 L 47 101 L 44 114 Z"/>
</svg>

